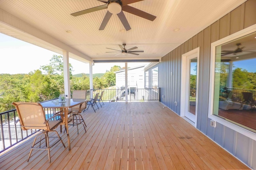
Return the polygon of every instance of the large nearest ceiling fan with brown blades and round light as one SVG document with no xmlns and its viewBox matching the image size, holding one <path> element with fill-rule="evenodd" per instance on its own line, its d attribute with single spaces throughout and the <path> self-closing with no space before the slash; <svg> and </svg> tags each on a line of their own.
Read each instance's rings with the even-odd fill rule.
<svg viewBox="0 0 256 170">
<path fill-rule="evenodd" d="M 142 10 L 139 10 L 137 8 L 134 8 L 132 6 L 128 6 L 128 4 L 132 4 L 135 2 L 139 2 L 142 0 L 98 0 L 100 2 L 105 3 L 105 5 L 101 5 L 101 6 L 96 6 L 93 8 L 89 8 L 87 10 L 82 10 L 79 12 L 75 12 L 73 14 L 71 14 L 72 16 L 80 16 L 83 14 L 87 14 L 90 12 L 95 12 L 98 10 L 104 10 L 104 9 L 108 9 L 101 25 L 100 25 L 100 29 L 99 30 L 104 30 L 104 28 L 106 27 L 108 21 L 110 20 L 112 14 L 117 14 L 118 18 L 120 19 L 120 21 L 122 22 L 122 24 L 124 25 L 124 28 L 126 29 L 126 31 L 130 30 L 131 27 L 124 15 L 124 12 L 129 12 L 130 14 L 134 14 L 136 16 L 145 18 L 147 20 L 150 21 L 154 21 L 156 19 L 156 16 L 153 16 L 151 14 L 148 14 Z"/>
</svg>

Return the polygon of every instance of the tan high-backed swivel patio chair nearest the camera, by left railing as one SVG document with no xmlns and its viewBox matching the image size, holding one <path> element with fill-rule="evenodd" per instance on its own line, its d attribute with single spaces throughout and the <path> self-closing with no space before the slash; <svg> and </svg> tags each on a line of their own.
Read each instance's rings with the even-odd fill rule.
<svg viewBox="0 0 256 170">
<path fill-rule="evenodd" d="M 46 119 L 46 115 L 44 109 L 41 104 L 35 102 L 12 102 L 12 104 L 16 107 L 18 112 L 19 119 L 15 121 L 17 124 L 20 122 L 20 127 L 22 130 L 32 130 L 36 132 L 36 137 L 30 149 L 30 153 L 28 155 L 28 161 L 31 156 L 32 150 L 48 150 L 48 158 L 49 162 L 51 162 L 50 158 L 50 148 L 56 145 L 58 142 L 61 142 L 63 147 L 65 145 L 58 134 L 58 132 L 54 129 L 58 127 L 58 125 L 63 124 L 63 115 L 56 114 L 48 119 Z M 57 136 L 49 136 L 49 132 L 56 133 Z M 39 139 L 38 139 L 39 137 Z M 49 139 L 57 138 L 57 140 L 52 140 L 51 145 Z M 44 144 L 45 142 L 45 144 Z M 45 145 L 45 147 L 41 147 L 41 145 Z"/>
</svg>

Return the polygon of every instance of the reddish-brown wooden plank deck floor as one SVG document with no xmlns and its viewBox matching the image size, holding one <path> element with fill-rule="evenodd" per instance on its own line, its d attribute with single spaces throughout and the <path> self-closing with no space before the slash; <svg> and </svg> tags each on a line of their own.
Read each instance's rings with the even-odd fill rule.
<svg viewBox="0 0 256 170">
<path fill-rule="evenodd" d="M 82 113 L 86 130 L 70 126 L 61 144 L 34 150 L 32 140 L 0 156 L 0 169 L 250 169 L 160 102 L 111 102 Z M 59 130 L 59 128 L 58 128 Z"/>
</svg>

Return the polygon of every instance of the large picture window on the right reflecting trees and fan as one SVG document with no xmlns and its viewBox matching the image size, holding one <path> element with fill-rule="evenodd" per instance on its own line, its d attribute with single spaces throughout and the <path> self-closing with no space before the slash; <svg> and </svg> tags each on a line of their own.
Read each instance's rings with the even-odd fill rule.
<svg viewBox="0 0 256 170">
<path fill-rule="evenodd" d="M 255 31 L 212 44 L 209 117 L 220 118 L 216 121 L 236 127 L 242 134 L 241 129 L 256 133 Z"/>
</svg>

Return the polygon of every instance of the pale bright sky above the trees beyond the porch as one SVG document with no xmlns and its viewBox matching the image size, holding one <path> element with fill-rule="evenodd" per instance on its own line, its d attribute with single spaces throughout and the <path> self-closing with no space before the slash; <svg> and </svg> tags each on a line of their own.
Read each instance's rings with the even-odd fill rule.
<svg viewBox="0 0 256 170">
<path fill-rule="evenodd" d="M 47 49 L 32 45 L 19 39 L 0 33 L 0 74 L 28 74 L 40 66 L 48 65 L 53 55 L 60 55 Z M 73 66 L 72 74 L 89 74 L 89 64 L 69 58 Z M 93 74 L 105 73 L 114 65 L 124 67 L 125 63 L 95 63 Z M 146 63 L 128 63 L 128 67 Z"/>
</svg>

